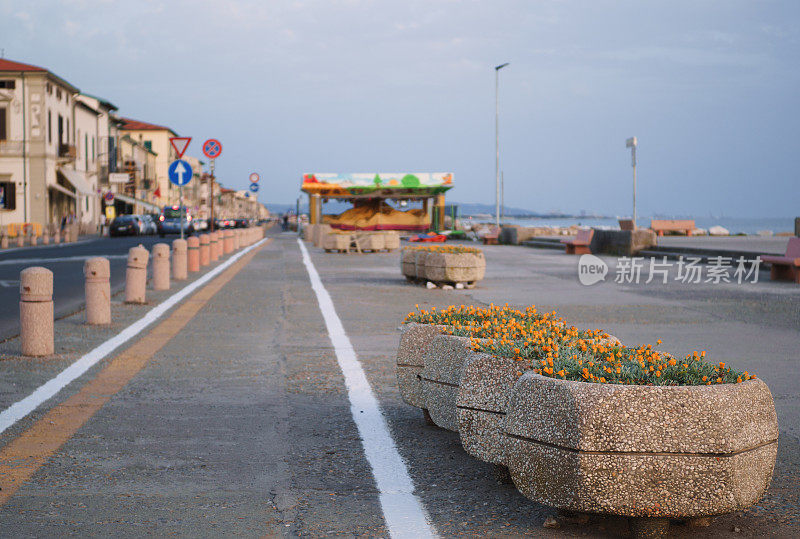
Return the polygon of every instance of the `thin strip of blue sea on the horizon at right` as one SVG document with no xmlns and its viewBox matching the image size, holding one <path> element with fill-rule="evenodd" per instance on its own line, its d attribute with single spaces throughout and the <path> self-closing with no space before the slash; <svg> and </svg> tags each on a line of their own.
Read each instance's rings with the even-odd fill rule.
<svg viewBox="0 0 800 539">
<path fill-rule="evenodd" d="M 639 217 L 638 225 L 649 226 L 650 217 Z M 654 219 L 687 219 L 685 217 L 654 217 Z M 712 226 L 726 228 L 731 234 L 777 234 L 779 232 L 794 232 L 793 217 L 692 217 L 697 228 L 708 230 Z M 468 222 L 469 218 L 462 218 Z M 488 216 L 474 216 L 473 222 L 493 222 Z M 617 218 L 611 217 L 506 217 L 503 223 L 520 226 L 552 226 L 569 227 L 572 225 L 588 226 L 598 229 L 614 230 L 619 229 Z"/>
</svg>

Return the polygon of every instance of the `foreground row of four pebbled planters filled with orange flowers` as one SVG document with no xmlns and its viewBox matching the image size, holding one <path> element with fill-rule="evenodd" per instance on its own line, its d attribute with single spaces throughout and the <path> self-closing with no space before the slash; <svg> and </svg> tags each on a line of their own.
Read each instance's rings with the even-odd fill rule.
<svg viewBox="0 0 800 539">
<path fill-rule="evenodd" d="M 533 307 L 453 306 L 406 322 L 430 339 L 416 352 L 415 405 L 537 502 L 640 523 L 740 510 L 769 486 L 772 395 L 704 352 L 626 347 Z"/>
</svg>

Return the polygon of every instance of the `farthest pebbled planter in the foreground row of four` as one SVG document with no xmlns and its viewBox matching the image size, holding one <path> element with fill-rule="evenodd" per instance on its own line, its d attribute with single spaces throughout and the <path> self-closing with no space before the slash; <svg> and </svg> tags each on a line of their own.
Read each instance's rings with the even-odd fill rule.
<svg viewBox="0 0 800 539">
<path fill-rule="evenodd" d="M 425 366 L 428 349 L 444 328 L 445 326 L 435 324 L 403 324 L 401 328 L 395 372 L 400 396 L 411 406 L 427 409 L 420 374 Z"/>
</svg>

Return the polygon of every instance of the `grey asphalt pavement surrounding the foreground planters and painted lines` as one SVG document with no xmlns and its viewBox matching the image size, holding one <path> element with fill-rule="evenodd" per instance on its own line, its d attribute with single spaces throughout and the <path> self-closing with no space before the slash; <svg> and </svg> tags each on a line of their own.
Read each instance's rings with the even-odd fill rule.
<svg viewBox="0 0 800 539">
<path fill-rule="evenodd" d="M 273 235 L 275 241 L 185 326 L 164 321 L 154 328 L 156 336 L 170 328 L 175 335 L 129 382 L 116 393 L 91 396 L 108 401 L 0 503 L 0 535 L 388 536 L 382 501 L 391 498 L 365 454 L 300 249 L 293 235 Z M 577 279 L 577 257 L 487 246 L 487 275 L 478 287 L 427 290 L 400 276 L 396 252 L 348 256 L 308 249 L 415 495 L 440 536 L 627 533 L 624 519 L 600 517 L 544 528 L 552 508 L 499 484 L 492 466 L 464 452 L 458 434 L 427 425 L 418 409 L 402 402 L 394 374 L 396 328 L 415 304 L 506 301 L 558 309 L 570 322 L 630 343 L 661 338 L 663 349 L 674 354 L 708 350 L 714 360 L 755 371 L 773 393 L 781 429 L 771 488 L 746 511 L 715 518 L 701 531 L 675 525 L 670 536 L 800 536 L 800 287 L 763 280 L 586 287 Z M 80 315 L 59 321 L 56 354 L 46 360 L 18 357 L 16 339 L 0 343 L 0 409 L 177 289 L 148 290 L 150 306 L 115 302 L 109 328 L 87 328 Z M 127 362 L 136 360 L 119 353 Z M 47 409 L 103 378 L 98 371 L 107 365 L 99 363 L 0 433 L 0 449 L 29 432 L 55 428 L 44 416 Z M 33 449 L 48 441 L 38 435 Z M 8 479 L 0 476 L 2 481 Z"/>
</svg>

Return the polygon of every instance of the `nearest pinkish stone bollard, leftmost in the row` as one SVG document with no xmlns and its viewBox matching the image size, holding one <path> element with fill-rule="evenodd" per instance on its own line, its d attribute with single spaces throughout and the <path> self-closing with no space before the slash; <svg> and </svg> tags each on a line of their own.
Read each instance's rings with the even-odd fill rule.
<svg viewBox="0 0 800 539">
<path fill-rule="evenodd" d="M 23 356 L 54 352 L 53 272 L 32 267 L 19 276 L 19 325 Z"/>
</svg>

